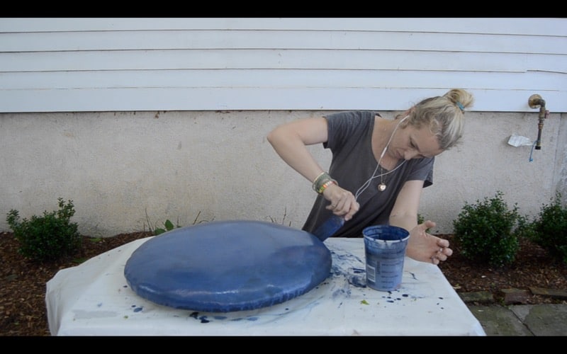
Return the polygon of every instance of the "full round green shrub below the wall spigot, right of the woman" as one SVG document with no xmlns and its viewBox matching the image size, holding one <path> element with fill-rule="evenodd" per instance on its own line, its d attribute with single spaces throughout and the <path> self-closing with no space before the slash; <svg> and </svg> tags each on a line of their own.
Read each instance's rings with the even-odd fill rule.
<svg viewBox="0 0 567 354">
<path fill-rule="evenodd" d="M 522 222 L 524 218 L 518 214 L 517 205 L 510 210 L 503 193 L 498 191 L 482 202 L 465 202 L 453 221 L 454 236 L 465 258 L 501 267 L 515 261 Z"/>
</svg>

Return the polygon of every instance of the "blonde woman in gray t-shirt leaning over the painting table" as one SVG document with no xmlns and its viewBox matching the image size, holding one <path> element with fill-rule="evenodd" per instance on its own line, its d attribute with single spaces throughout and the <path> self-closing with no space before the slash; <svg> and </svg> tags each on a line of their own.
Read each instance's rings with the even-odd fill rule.
<svg viewBox="0 0 567 354">
<path fill-rule="evenodd" d="M 434 156 L 454 147 L 464 130 L 471 93 L 451 89 L 426 98 L 393 120 L 370 111 L 333 113 L 296 120 L 269 132 L 268 141 L 283 161 L 313 183 L 318 197 L 303 225 L 313 233 L 332 215 L 344 218 L 333 234 L 361 237 L 362 229 L 391 224 L 410 232 L 406 254 L 439 264 L 453 251 L 449 241 L 427 234 L 435 227 L 417 224 L 422 189 L 432 185 Z M 328 173 L 307 145 L 332 152 Z"/>
</svg>

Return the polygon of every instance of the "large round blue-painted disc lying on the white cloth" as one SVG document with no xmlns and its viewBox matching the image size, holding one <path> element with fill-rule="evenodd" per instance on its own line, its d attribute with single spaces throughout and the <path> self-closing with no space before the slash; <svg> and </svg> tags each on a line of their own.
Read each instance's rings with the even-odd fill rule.
<svg viewBox="0 0 567 354">
<path fill-rule="evenodd" d="M 157 304 L 232 312 L 303 295 L 330 270 L 330 251 L 313 234 L 236 220 L 155 236 L 128 258 L 124 275 L 137 295 Z"/>
</svg>

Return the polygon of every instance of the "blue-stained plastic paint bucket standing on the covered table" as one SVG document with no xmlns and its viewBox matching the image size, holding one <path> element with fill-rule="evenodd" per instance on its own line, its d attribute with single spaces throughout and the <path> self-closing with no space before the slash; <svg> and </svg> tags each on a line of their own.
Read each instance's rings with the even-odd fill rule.
<svg viewBox="0 0 567 354">
<path fill-rule="evenodd" d="M 405 248 L 410 233 L 401 227 L 376 225 L 362 230 L 366 256 L 366 285 L 395 290 L 402 283 Z"/>
</svg>

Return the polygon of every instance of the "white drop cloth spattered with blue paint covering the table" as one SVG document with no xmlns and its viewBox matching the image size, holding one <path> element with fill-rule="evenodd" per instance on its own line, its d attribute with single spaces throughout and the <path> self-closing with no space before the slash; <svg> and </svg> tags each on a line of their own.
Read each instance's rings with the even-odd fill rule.
<svg viewBox="0 0 567 354">
<path fill-rule="evenodd" d="M 150 302 L 124 278 L 132 241 L 60 270 L 47 282 L 53 336 L 485 336 L 437 267 L 405 258 L 402 286 L 363 287 L 363 239 L 330 238 L 327 280 L 271 307 L 242 312 L 192 312 Z M 167 256 L 167 255 L 164 255 Z M 450 260 L 449 260 L 450 261 Z"/>
</svg>

